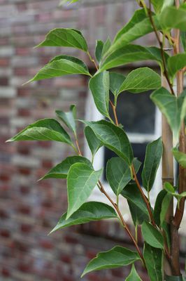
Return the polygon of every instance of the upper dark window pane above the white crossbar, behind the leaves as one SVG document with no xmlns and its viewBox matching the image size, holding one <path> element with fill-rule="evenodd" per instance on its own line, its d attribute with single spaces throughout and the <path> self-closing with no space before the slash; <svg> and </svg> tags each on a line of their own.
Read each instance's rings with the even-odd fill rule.
<svg viewBox="0 0 186 281">
<path fill-rule="evenodd" d="M 155 105 L 150 100 L 150 93 L 151 91 L 120 93 L 117 102 L 117 118 L 118 122 L 124 126 L 124 131 L 128 133 L 155 132 Z M 110 115 L 113 117 L 111 110 Z"/>
</svg>

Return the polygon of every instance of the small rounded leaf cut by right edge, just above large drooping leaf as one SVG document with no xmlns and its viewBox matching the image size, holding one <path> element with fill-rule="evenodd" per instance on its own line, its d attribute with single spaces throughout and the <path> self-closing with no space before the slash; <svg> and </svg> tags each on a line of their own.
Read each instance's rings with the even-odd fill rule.
<svg viewBox="0 0 186 281">
<path fill-rule="evenodd" d="M 178 70 L 186 66 L 186 53 L 178 53 L 168 59 L 168 72 L 174 77 Z"/>
</svg>

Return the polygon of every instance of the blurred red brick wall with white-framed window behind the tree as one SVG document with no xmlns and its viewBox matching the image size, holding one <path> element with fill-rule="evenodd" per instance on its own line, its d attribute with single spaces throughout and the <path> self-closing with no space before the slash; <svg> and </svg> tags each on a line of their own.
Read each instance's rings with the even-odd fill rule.
<svg viewBox="0 0 186 281">
<path fill-rule="evenodd" d="M 83 32 L 94 56 L 96 39 L 106 40 L 108 36 L 113 39 L 131 18 L 136 1 L 85 0 L 62 7 L 58 4 L 59 0 L 0 0 L 0 280 L 78 281 L 87 262 L 98 251 L 116 244 L 130 244 L 115 221 L 87 223 L 48 236 L 66 211 L 66 182 L 37 180 L 73 151 L 64 144 L 47 141 L 5 143 L 29 123 L 55 117 L 55 110 L 68 111 L 71 104 L 77 105 L 78 119 L 101 119 L 87 89 L 87 77 L 67 76 L 22 84 L 59 54 L 78 56 L 94 73 L 94 65 L 80 51 L 33 47 L 51 29 L 72 27 Z M 154 34 L 139 43 L 155 44 Z M 157 65 L 151 66 L 157 69 Z M 127 65 L 120 72 L 127 73 L 135 67 Z M 135 96 L 135 100 L 134 96 L 121 95 L 118 116 L 129 133 L 135 157 L 143 161 L 146 144 L 161 133 L 161 116 L 150 102 L 149 93 Z M 81 149 L 89 157 L 82 124 L 78 124 L 78 137 Z M 105 166 L 110 156 L 108 150 L 100 150 L 95 167 Z M 104 175 L 103 181 L 106 184 Z M 159 186 L 160 172 L 152 196 Z M 98 192 L 93 193 L 92 199 L 102 200 Z M 130 226 L 127 212 L 124 218 Z M 183 236 L 180 248 L 184 267 Z M 146 280 L 140 264 L 138 269 Z M 127 267 L 103 270 L 82 280 L 123 281 L 129 270 Z"/>
</svg>

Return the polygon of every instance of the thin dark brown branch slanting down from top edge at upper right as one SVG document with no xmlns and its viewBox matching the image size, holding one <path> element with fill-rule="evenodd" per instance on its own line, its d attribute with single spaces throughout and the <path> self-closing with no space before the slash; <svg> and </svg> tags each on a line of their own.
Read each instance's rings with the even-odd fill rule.
<svg viewBox="0 0 186 281">
<path fill-rule="evenodd" d="M 153 30 L 154 30 L 154 32 L 155 32 L 155 35 L 156 35 L 156 37 L 157 37 L 157 41 L 158 41 L 158 43 L 159 43 L 160 50 L 161 50 L 162 63 L 163 63 L 163 67 L 164 67 L 164 76 L 166 77 L 166 81 L 167 81 L 167 83 L 169 84 L 169 87 L 170 87 L 170 89 L 171 89 L 171 93 L 172 93 L 173 95 L 175 95 L 175 93 L 174 93 L 174 91 L 173 91 L 173 85 L 171 84 L 171 81 L 170 81 L 170 79 L 169 79 L 169 74 L 168 74 L 168 72 L 167 72 L 167 70 L 166 70 L 166 59 L 165 59 L 165 56 L 164 56 L 164 46 L 163 46 L 163 44 L 162 44 L 162 41 L 161 41 L 160 38 L 159 38 L 159 34 L 158 34 L 158 32 L 157 32 L 157 28 L 156 28 L 156 26 L 155 26 L 155 22 L 154 22 L 154 20 L 153 20 L 153 18 L 152 18 L 152 5 L 151 5 L 151 1 L 150 1 L 150 0 L 149 0 L 148 15 L 149 15 L 150 22 L 151 22 L 151 25 L 152 25 L 152 27 L 153 27 Z"/>
</svg>

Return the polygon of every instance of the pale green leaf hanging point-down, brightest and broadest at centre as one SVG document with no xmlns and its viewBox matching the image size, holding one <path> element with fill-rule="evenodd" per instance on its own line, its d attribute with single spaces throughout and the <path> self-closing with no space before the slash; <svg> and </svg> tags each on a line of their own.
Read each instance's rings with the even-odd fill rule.
<svg viewBox="0 0 186 281">
<path fill-rule="evenodd" d="M 87 164 L 76 163 L 69 169 L 67 190 L 69 207 L 66 214 L 68 219 L 90 197 L 92 190 L 99 181 L 102 169 L 94 171 Z"/>
</svg>

